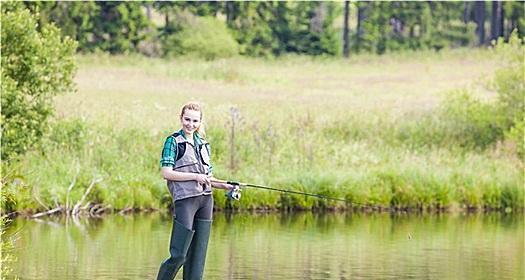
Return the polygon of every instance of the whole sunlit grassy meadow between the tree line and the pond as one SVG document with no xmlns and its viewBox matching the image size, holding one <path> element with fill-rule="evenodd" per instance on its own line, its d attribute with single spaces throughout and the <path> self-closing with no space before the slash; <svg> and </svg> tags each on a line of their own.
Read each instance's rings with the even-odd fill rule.
<svg viewBox="0 0 525 280">
<path fill-rule="evenodd" d="M 516 144 L 490 143 L 461 102 L 491 104 L 500 57 L 487 49 L 204 61 L 79 55 L 75 93 L 55 100 L 42 152 L 10 167 L 14 209 L 66 201 L 107 209 L 167 209 L 159 172 L 180 107 L 204 107 L 215 177 L 339 198 L 246 189 L 216 208 L 521 209 Z M 458 103 L 459 102 L 459 103 Z M 489 139 L 490 138 L 490 139 Z M 488 140 L 487 140 L 488 139 Z"/>
</svg>

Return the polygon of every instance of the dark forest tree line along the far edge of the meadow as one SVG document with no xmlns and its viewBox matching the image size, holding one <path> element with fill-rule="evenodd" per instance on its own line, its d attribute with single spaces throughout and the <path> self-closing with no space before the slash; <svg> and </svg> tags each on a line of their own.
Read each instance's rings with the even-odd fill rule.
<svg viewBox="0 0 525 280">
<path fill-rule="evenodd" d="M 185 53 L 190 29 L 224 25 L 250 56 L 286 53 L 348 56 L 403 49 L 441 49 L 489 44 L 525 32 L 524 2 L 26 2 L 40 23 L 54 22 L 79 42 L 79 51 Z M 197 24 L 200 18 L 213 22 Z M 341 22 L 339 22 L 341 21 Z M 213 31 L 212 31 L 213 33 Z M 222 35 L 221 35 L 222 36 Z M 191 40 L 189 38 L 188 40 Z M 221 46 L 222 38 L 208 42 Z M 217 45 L 218 44 L 218 45 Z M 231 48 L 231 43 L 228 43 Z"/>
</svg>

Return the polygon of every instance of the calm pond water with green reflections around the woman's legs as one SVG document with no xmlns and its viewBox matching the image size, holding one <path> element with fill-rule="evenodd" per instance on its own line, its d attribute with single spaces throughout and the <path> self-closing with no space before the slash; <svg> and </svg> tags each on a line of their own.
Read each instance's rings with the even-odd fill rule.
<svg viewBox="0 0 525 280">
<path fill-rule="evenodd" d="M 17 218 L 20 279 L 154 279 L 171 217 Z M 215 213 L 205 279 L 524 279 L 522 214 Z M 176 279 L 182 279 L 178 275 Z"/>
</svg>

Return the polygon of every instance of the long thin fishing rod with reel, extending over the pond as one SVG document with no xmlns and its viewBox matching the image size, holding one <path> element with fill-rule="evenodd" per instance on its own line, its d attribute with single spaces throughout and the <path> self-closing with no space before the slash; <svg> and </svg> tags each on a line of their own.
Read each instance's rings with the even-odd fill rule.
<svg viewBox="0 0 525 280">
<path fill-rule="evenodd" d="M 291 194 L 298 194 L 298 195 L 304 195 L 304 196 L 311 196 L 311 197 L 316 197 L 316 198 L 321 198 L 321 199 L 326 199 L 326 200 L 342 201 L 347 204 L 352 204 L 352 205 L 361 206 L 365 208 L 379 208 L 380 210 L 388 210 L 388 211 L 392 210 L 390 207 L 370 206 L 370 205 L 363 204 L 363 203 L 352 202 L 344 198 L 326 196 L 326 195 L 315 194 L 315 193 L 307 193 L 307 192 L 300 192 L 300 191 L 293 191 L 293 190 L 286 190 L 286 189 L 271 188 L 268 186 L 241 183 L 241 182 L 235 182 L 235 181 L 222 181 L 222 180 L 213 180 L 213 181 L 234 186 L 228 193 L 226 193 L 226 196 L 228 197 L 228 199 L 233 199 L 233 200 L 240 200 L 241 199 L 241 189 L 245 187 L 250 187 L 250 188 L 256 188 L 256 189 L 277 191 L 277 192 L 282 192 L 282 193 L 291 193 Z"/>
</svg>

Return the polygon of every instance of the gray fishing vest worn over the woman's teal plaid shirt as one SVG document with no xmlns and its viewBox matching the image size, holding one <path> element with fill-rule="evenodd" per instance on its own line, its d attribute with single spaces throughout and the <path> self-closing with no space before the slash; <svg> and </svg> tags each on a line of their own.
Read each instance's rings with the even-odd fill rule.
<svg viewBox="0 0 525 280">
<path fill-rule="evenodd" d="M 175 159 L 175 167 L 173 170 L 179 172 L 209 174 L 210 172 L 210 155 L 208 153 L 208 142 L 201 140 L 201 143 L 195 141 L 197 149 L 188 142 L 184 136 L 175 133 L 173 136 L 175 143 L 177 143 L 177 155 Z M 182 149 L 179 147 L 182 145 Z M 197 152 L 196 152 L 197 151 Z M 171 181 L 168 180 L 168 189 L 171 193 L 173 201 L 194 197 L 199 195 L 210 195 L 211 185 L 201 185 L 197 181 Z"/>
</svg>

